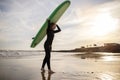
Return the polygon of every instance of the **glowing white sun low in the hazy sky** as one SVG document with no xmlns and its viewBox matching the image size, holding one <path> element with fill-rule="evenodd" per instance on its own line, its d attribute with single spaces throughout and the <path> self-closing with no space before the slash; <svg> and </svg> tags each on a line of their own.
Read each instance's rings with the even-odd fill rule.
<svg viewBox="0 0 120 80">
<path fill-rule="evenodd" d="M 104 36 L 117 29 L 118 20 L 109 12 L 98 14 L 92 21 L 91 32 L 95 36 Z"/>
</svg>

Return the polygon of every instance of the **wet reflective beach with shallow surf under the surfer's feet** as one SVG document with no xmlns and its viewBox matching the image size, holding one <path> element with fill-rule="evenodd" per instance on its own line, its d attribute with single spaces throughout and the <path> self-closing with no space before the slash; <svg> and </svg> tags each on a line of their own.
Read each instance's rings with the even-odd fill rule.
<svg viewBox="0 0 120 80">
<path fill-rule="evenodd" d="M 43 58 L 39 51 L 0 52 L 0 80 L 120 80 L 120 53 L 52 52 L 54 74 L 47 67 L 41 73 Z"/>
</svg>

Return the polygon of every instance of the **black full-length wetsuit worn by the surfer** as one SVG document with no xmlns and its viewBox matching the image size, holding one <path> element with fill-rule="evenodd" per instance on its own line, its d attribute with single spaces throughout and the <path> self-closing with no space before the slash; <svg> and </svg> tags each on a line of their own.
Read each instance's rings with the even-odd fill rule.
<svg viewBox="0 0 120 80">
<path fill-rule="evenodd" d="M 51 29 L 51 23 L 50 20 L 48 20 L 48 28 L 47 28 L 47 40 L 45 41 L 44 48 L 45 48 L 45 58 L 43 60 L 42 68 L 44 68 L 45 64 L 47 63 L 48 69 L 50 70 L 50 56 L 51 56 L 51 49 L 52 49 L 52 42 L 54 39 L 54 33 L 60 32 L 61 29 L 59 28 L 58 25 L 57 29 L 58 30 L 52 30 Z"/>
</svg>

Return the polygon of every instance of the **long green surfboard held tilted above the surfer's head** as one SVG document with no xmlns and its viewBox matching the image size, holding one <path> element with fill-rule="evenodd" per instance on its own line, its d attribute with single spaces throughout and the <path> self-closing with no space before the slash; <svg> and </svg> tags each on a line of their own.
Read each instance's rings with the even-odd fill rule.
<svg viewBox="0 0 120 80">
<path fill-rule="evenodd" d="M 63 13 L 67 10 L 67 8 L 70 6 L 70 1 L 66 0 L 62 2 L 48 17 L 48 19 L 56 23 L 60 17 L 63 15 Z M 36 47 L 45 37 L 46 35 L 46 30 L 48 27 L 48 22 L 45 21 L 44 24 L 42 25 L 41 29 L 38 31 L 37 35 L 33 38 L 33 41 L 31 43 L 31 47 L 34 48 Z"/>
</svg>

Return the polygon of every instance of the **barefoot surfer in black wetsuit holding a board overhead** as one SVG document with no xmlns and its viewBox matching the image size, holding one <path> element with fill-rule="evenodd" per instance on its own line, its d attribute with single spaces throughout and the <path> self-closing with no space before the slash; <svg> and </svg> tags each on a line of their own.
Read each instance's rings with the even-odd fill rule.
<svg viewBox="0 0 120 80">
<path fill-rule="evenodd" d="M 47 19 L 47 21 L 48 21 L 48 28 L 46 30 L 47 39 L 44 43 L 45 57 L 44 57 L 44 60 L 43 60 L 43 63 L 42 63 L 41 72 L 45 72 L 44 67 L 45 67 L 45 64 L 47 64 L 48 72 L 49 73 L 54 73 L 51 70 L 51 65 L 50 65 L 52 42 L 53 42 L 53 39 L 54 39 L 54 33 L 60 32 L 61 29 L 59 28 L 59 26 L 57 24 L 51 23 L 51 21 L 49 19 Z M 57 27 L 57 30 L 55 30 L 56 27 Z"/>
</svg>

